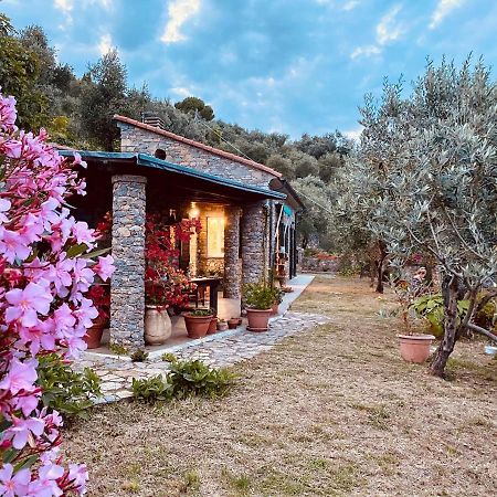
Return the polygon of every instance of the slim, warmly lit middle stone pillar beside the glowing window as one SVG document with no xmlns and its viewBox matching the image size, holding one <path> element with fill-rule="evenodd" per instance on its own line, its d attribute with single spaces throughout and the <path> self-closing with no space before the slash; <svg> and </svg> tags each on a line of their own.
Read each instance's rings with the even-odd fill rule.
<svg viewBox="0 0 497 497">
<path fill-rule="evenodd" d="M 240 216 L 242 209 L 224 209 L 224 298 L 240 298 L 241 275 L 240 254 Z"/>
</svg>

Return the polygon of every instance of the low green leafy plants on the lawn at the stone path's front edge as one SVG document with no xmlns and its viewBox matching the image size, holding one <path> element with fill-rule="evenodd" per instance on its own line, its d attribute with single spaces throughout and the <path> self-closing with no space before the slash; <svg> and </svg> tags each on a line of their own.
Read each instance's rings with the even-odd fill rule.
<svg viewBox="0 0 497 497">
<path fill-rule="evenodd" d="M 232 387 L 235 374 L 226 368 L 209 368 L 202 361 L 171 361 L 166 378 L 157 376 L 133 380 L 133 395 L 142 402 L 184 399 L 190 395 L 222 396 Z"/>
</svg>

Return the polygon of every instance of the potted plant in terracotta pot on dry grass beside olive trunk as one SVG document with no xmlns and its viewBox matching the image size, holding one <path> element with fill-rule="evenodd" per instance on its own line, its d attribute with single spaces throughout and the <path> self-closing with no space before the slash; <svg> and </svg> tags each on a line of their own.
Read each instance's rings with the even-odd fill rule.
<svg viewBox="0 0 497 497">
<path fill-rule="evenodd" d="M 412 309 L 413 300 L 415 296 L 423 293 L 423 289 L 420 287 L 420 282 L 411 283 L 409 278 L 391 279 L 391 285 L 399 302 L 400 317 L 405 329 L 405 334 L 398 335 L 402 359 L 408 362 L 423 363 L 430 357 L 430 346 L 435 339 L 433 335 L 416 334 L 411 324 L 411 320 L 415 318 Z"/>
</svg>

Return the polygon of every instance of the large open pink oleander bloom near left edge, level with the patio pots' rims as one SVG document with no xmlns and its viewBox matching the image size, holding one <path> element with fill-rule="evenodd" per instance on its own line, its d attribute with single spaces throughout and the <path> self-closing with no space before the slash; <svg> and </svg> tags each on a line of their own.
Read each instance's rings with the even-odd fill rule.
<svg viewBox="0 0 497 497">
<path fill-rule="evenodd" d="M 38 313 L 43 316 L 49 314 L 53 297 L 41 283 L 29 283 L 24 289 L 7 292 L 6 299 L 12 306 L 6 310 L 7 322 L 20 319 L 22 326 L 36 326 Z"/>
</svg>

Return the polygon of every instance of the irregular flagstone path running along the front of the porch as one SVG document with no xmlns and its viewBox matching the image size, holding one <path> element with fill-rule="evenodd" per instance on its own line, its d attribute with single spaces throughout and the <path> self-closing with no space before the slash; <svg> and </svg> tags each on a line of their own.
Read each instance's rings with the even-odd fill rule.
<svg viewBox="0 0 497 497">
<path fill-rule="evenodd" d="M 175 351 L 179 360 L 200 359 L 213 368 L 231 366 L 271 350 L 285 337 L 328 322 L 330 318 L 308 313 L 286 313 L 271 320 L 269 330 L 254 334 L 244 329 L 229 336 L 215 336 L 209 341 L 189 342 Z M 103 398 L 97 403 L 115 402 L 131 396 L 133 378 L 149 378 L 166 374 L 169 362 L 160 359 L 146 362 L 131 362 L 129 358 L 84 359 L 77 368 L 93 368 L 102 379 Z"/>
</svg>

